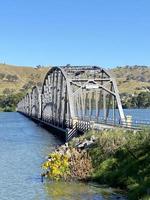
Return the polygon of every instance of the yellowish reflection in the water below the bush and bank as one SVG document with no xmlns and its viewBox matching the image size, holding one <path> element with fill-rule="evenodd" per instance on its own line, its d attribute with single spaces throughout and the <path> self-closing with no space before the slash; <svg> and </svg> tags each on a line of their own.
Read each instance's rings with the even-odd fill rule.
<svg viewBox="0 0 150 200">
<path fill-rule="evenodd" d="M 94 186 L 79 182 L 44 183 L 47 199 L 55 200 L 125 200 L 124 195 L 111 188 Z"/>
</svg>

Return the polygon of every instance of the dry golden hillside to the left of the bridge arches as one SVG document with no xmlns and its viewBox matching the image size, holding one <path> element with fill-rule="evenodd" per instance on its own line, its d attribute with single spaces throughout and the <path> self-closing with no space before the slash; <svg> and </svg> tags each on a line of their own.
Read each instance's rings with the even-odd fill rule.
<svg viewBox="0 0 150 200">
<path fill-rule="evenodd" d="M 0 64 L 0 95 L 27 91 L 41 85 L 48 68 Z"/>
</svg>

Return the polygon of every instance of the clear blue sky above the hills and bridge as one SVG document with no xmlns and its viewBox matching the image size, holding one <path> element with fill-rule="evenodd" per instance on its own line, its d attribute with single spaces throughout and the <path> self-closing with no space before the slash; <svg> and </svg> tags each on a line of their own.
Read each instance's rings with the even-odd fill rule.
<svg viewBox="0 0 150 200">
<path fill-rule="evenodd" d="M 0 62 L 150 65 L 150 0 L 1 0 Z"/>
</svg>

